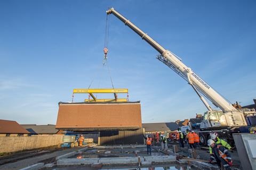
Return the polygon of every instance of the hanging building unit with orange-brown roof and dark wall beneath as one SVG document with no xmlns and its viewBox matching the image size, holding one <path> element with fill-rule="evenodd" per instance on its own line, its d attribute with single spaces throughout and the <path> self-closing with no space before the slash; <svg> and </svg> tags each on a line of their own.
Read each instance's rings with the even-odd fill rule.
<svg viewBox="0 0 256 170">
<path fill-rule="evenodd" d="M 143 143 L 140 102 L 59 103 L 56 128 L 100 132 L 100 144 Z"/>
</svg>

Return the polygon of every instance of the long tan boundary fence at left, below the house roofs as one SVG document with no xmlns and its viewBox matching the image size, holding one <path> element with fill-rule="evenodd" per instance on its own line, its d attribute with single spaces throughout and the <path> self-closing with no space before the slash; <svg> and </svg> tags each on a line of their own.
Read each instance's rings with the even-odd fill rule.
<svg viewBox="0 0 256 170">
<path fill-rule="evenodd" d="M 0 137 L 0 153 L 51 147 L 62 141 L 63 135 Z"/>
</svg>

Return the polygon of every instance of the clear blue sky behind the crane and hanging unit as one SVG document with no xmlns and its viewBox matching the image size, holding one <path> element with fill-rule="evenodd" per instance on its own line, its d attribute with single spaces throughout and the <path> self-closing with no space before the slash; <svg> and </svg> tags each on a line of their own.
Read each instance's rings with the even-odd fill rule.
<svg viewBox="0 0 256 170">
<path fill-rule="evenodd" d="M 182 58 L 230 102 L 256 98 L 255 1 L 0 1 L 0 119 L 55 124 L 73 88 L 111 88 L 102 68 L 108 7 Z M 114 86 L 141 101 L 142 122 L 206 111 L 151 46 L 110 16 Z M 106 96 L 100 96 L 106 97 Z M 77 94 L 83 101 L 87 94 Z"/>
</svg>

